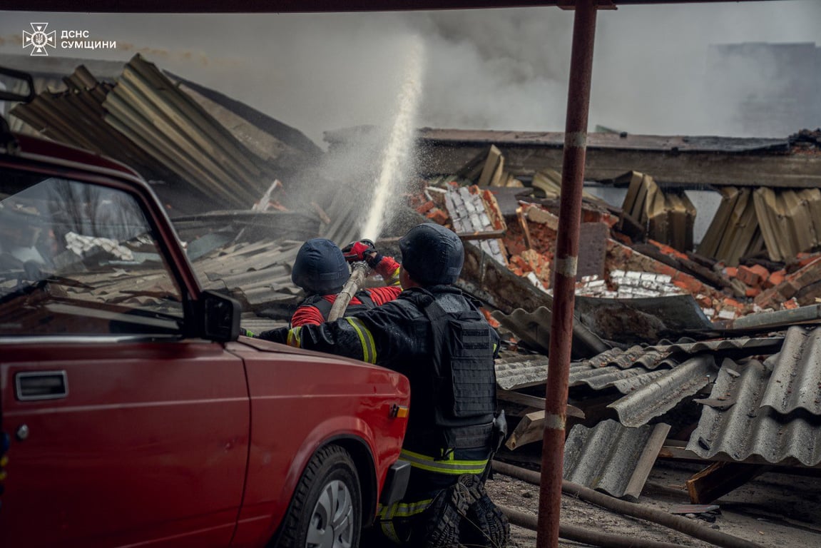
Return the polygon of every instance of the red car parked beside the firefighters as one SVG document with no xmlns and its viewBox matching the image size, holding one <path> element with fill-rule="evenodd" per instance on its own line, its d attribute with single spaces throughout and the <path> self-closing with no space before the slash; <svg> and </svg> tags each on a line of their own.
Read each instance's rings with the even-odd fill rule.
<svg viewBox="0 0 821 548">
<path fill-rule="evenodd" d="M 0 546 L 357 546 L 408 380 L 239 318 L 135 172 L 0 118 Z"/>
</svg>

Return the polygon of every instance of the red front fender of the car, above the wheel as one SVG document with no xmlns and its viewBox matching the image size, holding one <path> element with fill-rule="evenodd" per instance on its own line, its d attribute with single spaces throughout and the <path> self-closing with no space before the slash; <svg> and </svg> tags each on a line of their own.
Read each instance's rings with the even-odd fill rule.
<svg viewBox="0 0 821 548">
<path fill-rule="evenodd" d="M 310 458 L 329 443 L 352 454 L 360 476 L 372 460 L 370 477 L 360 480 L 366 490 L 372 486 L 363 492 L 364 500 L 373 497 L 364 512 L 375 511 L 405 435 L 406 417 L 397 417 L 397 408 L 410 402 L 407 378 L 320 352 L 283 352 L 295 349 L 259 339 L 243 337 L 228 349 L 245 361 L 252 417 L 234 544 L 254 546 L 273 536 Z"/>
</svg>

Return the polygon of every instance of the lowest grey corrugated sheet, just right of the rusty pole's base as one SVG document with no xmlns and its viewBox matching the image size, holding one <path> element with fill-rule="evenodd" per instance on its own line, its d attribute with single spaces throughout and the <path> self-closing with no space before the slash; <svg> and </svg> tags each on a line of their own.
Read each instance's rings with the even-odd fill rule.
<svg viewBox="0 0 821 548">
<path fill-rule="evenodd" d="M 637 500 L 670 426 L 576 425 L 565 442 L 562 477 L 618 498 Z"/>
</svg>

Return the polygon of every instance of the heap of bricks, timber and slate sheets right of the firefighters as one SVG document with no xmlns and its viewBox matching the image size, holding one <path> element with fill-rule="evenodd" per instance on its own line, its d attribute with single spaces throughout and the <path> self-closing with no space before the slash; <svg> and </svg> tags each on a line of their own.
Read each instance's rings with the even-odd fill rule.
<svg viewBox="0 0 821 548">
<path fill-rule="evenodd" d="M 502 219 L 503 224 L 497 224 L 505 227 L 501 236 L 491 232 L 493 226 L 487 222 L 470 227 L 475 229 L 471 237 L 492 237 L 500 242 L 497 249 L 506 252 L 502 260 L 489 254 L 484 260 L 494 260 L 497 268 L 545 295 L 544 306 L 536 308 L 530 292 L 528 297 L 523 292 L 522 308 L 491 314 L 506 334 L 497 362 L 502 389 L 499 401 L 514 426 L 501 458 L 527 462 L 526 449 L 538 446 L 533 442 L 541 440 L 544 429 L 551 267 L 560 190 L 550 183 L 560 177 L 543 173 L 538 186 L 527 187 L 521 179 L 503 173 L 503 158 L 493 149 L 487 162 L 474 163 L 491 166 L 493 175 L 482 177 L 483 172 L 474 168 L 471 178 L 466 168 L 452 177 L 437 177 L 423 191 L 409 196 L 408 205 L 463 237 L 467 236 L 465 227 L 454 223 L 455 219 L 466 215 Z M 793 407 L 786 403 L 786 409 L 776 411 L 759 402 L 760 394 L 782 389 L 785 378 L 791 379 L 792 386 L 783 394 L 784 402 L 798 398 L 790 395 L 793 391 L 815 394 L 816 402 L 821 398 L 821 385 L 812 381 L 821 375 L 821 359 L 810 350 L 811 343 L 804 342 L 814 340 L 817 331 L 811 329 L 821 321 L 818 245 L 809 240 L 793 247 L 781 243 L 779 249 L 794 249 L 795 253 L 773 256 L 766 253 L 764 232 L 768 228 L 756 228 L 757 247 L 748 245 L 744 250 L 755 251 L 750 256 L 739 253 L 739 246 L 727 247 L 728 256 L 722 256 L 719 251 L 724 248 L 718 246 L 703 255 L 694 249 L 696 212 L 686 196 L 667 196 L 653 177 L 643 173 L 627 173 L 622 180 L 630 185 L 623 209 L 603 205 L 594 196 L 585 196 L 583 201 L 573 343 L 576 361 L 571 364 L 567 425 L 568 440 L 577 441 L 566 445 L 565 457 L 573 463 L 566 472 L 584 469 L 594 478 L 589 486 L 607 490 L 613 474 L 636 481 L 637 471 L 646 472 L 646 461 L 659 455 L 748 467 L 817 466 L 821 442 L 808 442 L 809 446 L 799 450 L 785 446 L 783 437 L 791 429 L 805 428 L 803 440 L 819 440 L 817 405 L 805 422 L 787 411 L 801 403 Z M 494 181 L 498 186 L 493 186 Z M 502 183 L 506 181 L 511 187 Z M 500 190 L 506 188 L 519 189 L 512 205 L 502 200 L 509 196 Z M 484 212 L 477 211 L 475 203 L 466 212 L 463 202 L 447 200 L 456 193 L 481 196 Z M 783 189 L 777 195 L 790 196 Z M 721 208 L 717 215 L 722 215 Z M 821 226 L 821 215 L 817 219 Z M 713 222 L 713 226 L 719 224 Z M 809 226 L 813 233 L 814 225 Z M 790 232 L 785 228 L 777 237 L 789 238 Z M 476 245 L 475 240 L 472 243 Z M 475 277 L 473 269 L 463 273 L 463 278 Z M 495 291 L 500 293 L 498 302 L 507 303 L 510 300 L 501 293 L 507 292 L 510 283 L 506 279 L 503 285 L 480 285 L 483 296 L 494 297 Z M 465 285 L 470 290 L 477 284 L 469 280 Z M 493 308 L 490 298 L 484 300 Z M 808 323 L 810 330 L 796 323 Z M 797 341 L 790 343 L 795 352 L 788 355 L 782 348 L 788 343 L 787 329 L 789 340 Z M 595 344 L 577 343 L 576 334 L 581 334 L 578 340 L 598 340 L 608 349 L 602 352 L 595 350 Z M 773 364 L 779 364 L 782 371 L 773 371 Z M 757 418 L 739 421 L 736 417 L 742 412 Z M 603 436 L 619 440 L 627 431 L 650 427 L 654 440 L 624 448 L 633 452 L 626 460 L 618 449 L 605 458 L 596 449 Z M 693 437 L 694 431 L 700 435 Z M 589 437 L 597 441 L 589 446 L 578 441 Z M 608 462 L 619 462 L 620 467 L 608 467 Z M 712 485 L 732 473 L 729 469 L 707 467 L 696 474 L 688 482 L 691 501 L 707 503 L 731 490 L 732 486 Z M 623 490 L 611 494 L 626 495 Z"/>
</svg>

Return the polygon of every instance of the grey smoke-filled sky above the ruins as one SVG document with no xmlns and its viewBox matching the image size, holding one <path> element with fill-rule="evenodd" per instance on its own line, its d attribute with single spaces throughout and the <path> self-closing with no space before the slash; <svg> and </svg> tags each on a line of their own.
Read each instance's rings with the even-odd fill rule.
<svg viewBox="0 0 821 548">
<path fill-rule="evenodd" d="M 573 13 L 557 7 L 252 15 L 0 12 L 0 53 L 28 55 L 23 31 L 30 32 L 32 22 L 57 30 L 58 47 L 47 48 L 50 56 L 127 61 L 139 52 L 160 68 L 296 127 L 323 148 L 323 131 L 392 123 L 408 50 L 420 39 L 416 127 L 564 129 Z M 62 30 L 87 30 L 89 39 L 116 41 L 117 48 L 61 48 Z M 745 136 L 732 116 L 740 90 L 713 87 L 713 95 L 704 95 L 709 46 L 745 42 L 821 47 L 821 2 L 599 12 L 589 129 Z M 31 67 L 40 59 L 30 57 Z M 763 76 L 754 69 L 744 75 L 743 90 L 768 85 Z M 811 122 L 821 126 L 821 120 Z"/>
</svg>

